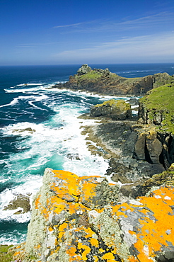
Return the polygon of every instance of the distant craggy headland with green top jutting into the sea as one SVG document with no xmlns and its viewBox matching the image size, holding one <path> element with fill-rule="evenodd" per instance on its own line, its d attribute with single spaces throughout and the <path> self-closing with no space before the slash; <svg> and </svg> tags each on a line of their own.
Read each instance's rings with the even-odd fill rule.
<svg viewBox="0 0 174 262">
<path fill-rule="evenodd" d="M 124 78 L 111 73 L 109 69 L 91 69 L 83 64 L 69 81 L 57 84 L 53 88 L 82 90 L 110 96 L 144 96 L 144 94 L 163 84 L 169 84 L 173 79 L 167 73 L 154 74 L 137 78 Z"/>
</svg>

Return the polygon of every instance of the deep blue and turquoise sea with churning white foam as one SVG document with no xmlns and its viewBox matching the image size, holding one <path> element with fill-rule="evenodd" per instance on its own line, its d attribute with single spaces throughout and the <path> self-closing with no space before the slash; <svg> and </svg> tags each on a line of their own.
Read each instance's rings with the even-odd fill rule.
<svg viewBox="0 0 174 262">
<path fill-rule="evenodd" d="M 124 77 L 167 72 L 173 64 L 90 64 Z M 25 241 L 30 212 L 4 210 L 16 195 L 33 195 L 45 168 L 79 176 L 104 176 L 108 161 L 92 156 L 77 117 L 110 96 L 49 89 L 69 80 L 81 65 L 0 67 L 0 244 Z M 120 98 L 127 99 L 127 98 Z M 93 120 L 87 120 L 93 123 Z"/>
</svg>

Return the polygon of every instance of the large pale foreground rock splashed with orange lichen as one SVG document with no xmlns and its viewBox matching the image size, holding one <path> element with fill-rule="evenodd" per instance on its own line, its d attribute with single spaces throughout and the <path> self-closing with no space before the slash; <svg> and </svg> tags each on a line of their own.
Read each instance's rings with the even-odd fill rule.
<svg viewBox="0 0 174 262">
<path fill-rule="evenodd" d="M 172 186 L 118 203 L 105 178 L 47 169 L 25 246 L 14 259 L 40 262 L 173 261 Z"/>
</svg>

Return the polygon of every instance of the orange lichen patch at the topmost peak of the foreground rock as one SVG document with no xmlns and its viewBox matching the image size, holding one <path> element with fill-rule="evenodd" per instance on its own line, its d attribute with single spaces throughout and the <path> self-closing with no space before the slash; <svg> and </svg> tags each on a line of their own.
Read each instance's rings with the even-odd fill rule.
<svg viewBox="0 0 174 262">
<path fill-rule="evenodd" d="M 53 170 L 56 178 L 59 178 L 59 186 L 56 183 L 52 184 L 51 189 L 59 196 L 66 200 L 79 200 L 80 190 L 79 190 L 79 176 L 76 176 L 74 173 L 67 171 L 57 171 Z"/>
</svg>

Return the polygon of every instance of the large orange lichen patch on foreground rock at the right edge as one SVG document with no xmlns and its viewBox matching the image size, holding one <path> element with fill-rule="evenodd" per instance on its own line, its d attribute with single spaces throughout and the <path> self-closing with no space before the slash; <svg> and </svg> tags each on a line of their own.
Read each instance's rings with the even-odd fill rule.
<svg viewBox="0 0 174 262">
<path fill-rule="evenodd" d="M 139 261 L 153 261 L 157 251 L 163 246 L 168 246 L 168 242 L 174 245 L 174 217 L 170 205 L 174 205 L 173 188 L 161 188 L 153 191 L 153 196 L 141 197 L 140 202 L 153 212 L 154 220 L 146 217 L 139 219 L 142 225 L 137 234 L 137 242 L 134 244 L 139 252 Z M 158 195 L 158 198 L 156 198 Z M 166 196 L 168 196 L 167 199 Z M 170 203 L 170 205 L 168 205 Z M 140 210 L 142 212 L 143 210 Z"/>
</svg>

